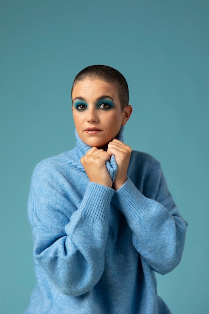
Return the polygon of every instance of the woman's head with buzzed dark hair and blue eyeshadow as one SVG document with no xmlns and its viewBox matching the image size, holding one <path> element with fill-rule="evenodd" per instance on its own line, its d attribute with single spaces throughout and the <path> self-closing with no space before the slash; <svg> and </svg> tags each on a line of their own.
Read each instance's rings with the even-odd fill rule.
<svg viewBox="0 0 209 314">
<path fill-rule="evenodd" d="M 99 72 L 99 68 L 103 72 Z M 110 72 L 114 73 L 113 77 Z M 90 66 L 74 80 L 71 93 L 73 119 L 79 137 L 89 146 L 106 147 L 131 115 L 127 83 L 122 74 L 118 73 L 107 66 Z M 119 85 L 119 79 L 123 84 Z M 123 96 L 120 95 L 120 89 L 123 89 Z M 125 97 L 126 102 L 122 102 Z"/>
</svg>

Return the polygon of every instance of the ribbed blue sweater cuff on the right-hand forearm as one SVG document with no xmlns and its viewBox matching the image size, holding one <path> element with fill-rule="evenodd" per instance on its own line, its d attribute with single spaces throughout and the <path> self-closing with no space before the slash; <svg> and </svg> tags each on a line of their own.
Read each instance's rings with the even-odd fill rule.
<svg viewBox="0 0 209 314">
<path fill-rule="evenodd" d="M 137 218 L 150 206 L 150 200 L 137 190 L 129 178 L 120 189 L 115 191 L 113 203 L 130 220 Z"/>
</svg>

